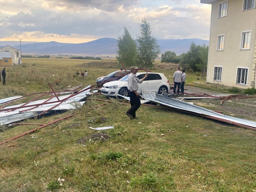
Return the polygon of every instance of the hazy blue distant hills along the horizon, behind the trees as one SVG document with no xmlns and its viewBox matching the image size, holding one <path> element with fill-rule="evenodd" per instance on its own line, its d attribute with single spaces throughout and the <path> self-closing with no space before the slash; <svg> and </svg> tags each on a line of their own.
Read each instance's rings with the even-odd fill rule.
<svg viewBox="0 0 256 192">
<path fill-rule="evenodd" d="M 159 39 L 158 44 L 161 52 L 173 51 L 177 55 L 189 50 L 190 44 L 209 45 L 208 40 L 203 39 Z M 20 49 L 19 42 L 2 41 L 0 47 L 10 45 Z M 36 45 L 36 47 L 34 46 Z M 44 54 L 82 54 L 82 55 L 116 55 L 117 39 L 100 38 L 87 43 L 58 43 L 52 42 L 21 42 L 22 54 L 33 54 L 36 48 L 37 55 Z"/>
</svg>

